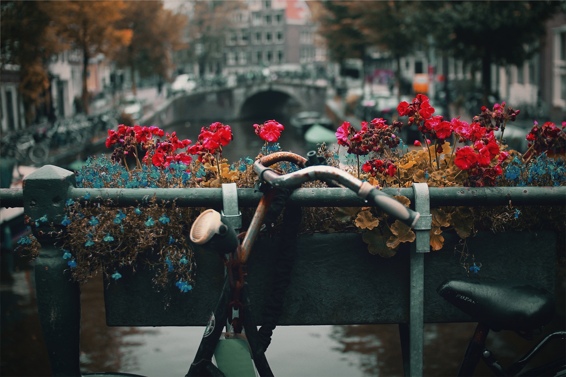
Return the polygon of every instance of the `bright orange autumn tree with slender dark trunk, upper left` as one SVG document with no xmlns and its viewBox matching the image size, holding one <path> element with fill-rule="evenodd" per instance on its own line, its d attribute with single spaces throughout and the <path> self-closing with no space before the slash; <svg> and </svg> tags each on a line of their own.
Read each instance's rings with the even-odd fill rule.
<svg viewBox="0 0 566 377">
<path fill-rule="evenodd" d="M 83 106 L 88 114 L 88 61 L 98 53 L 112 55 L 130 42 L 130 29 L 116 25 L 123 19 L 123 1 L 65 0 L 45 2 L 45 10 L 53 20 L 59 36 L 83 54 Z"/>
</svg>

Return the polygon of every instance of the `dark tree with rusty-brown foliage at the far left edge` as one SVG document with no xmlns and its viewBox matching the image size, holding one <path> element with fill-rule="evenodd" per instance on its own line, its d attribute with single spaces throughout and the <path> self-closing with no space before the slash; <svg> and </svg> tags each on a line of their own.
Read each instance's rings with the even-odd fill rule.
<svg viewBox="0 0 566 377">
<path fill-rule="evenodd" d="M 20 66 L 19 93 L 27 123 L 35 116 L 35 107 L 50 100 L 46 67 L 50 56 L 65 47 L 55 37 L 49 15 L 41 5 L 37 1 L 2 1 L 0 4 L 1 64 Z"/>
</svg>

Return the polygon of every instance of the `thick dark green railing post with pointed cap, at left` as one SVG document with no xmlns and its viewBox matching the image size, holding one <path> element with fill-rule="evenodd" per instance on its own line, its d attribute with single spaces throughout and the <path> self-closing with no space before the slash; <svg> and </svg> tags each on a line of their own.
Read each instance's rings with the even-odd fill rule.
<svg viewBox="0 0 566 377">
<path fill-rule="evenodd" d="M 46 165 L 24 180 L 24 209 L 41 244 L 35 262 L 37 310 L 54 376 L 80 376 L 80 290 L 50 235 L 61 227 L 75 174 Z M 46 221 L 42 221 L 41 218 Z M 66 271 L 65 271 L 66 270 Z"/>
</svg>

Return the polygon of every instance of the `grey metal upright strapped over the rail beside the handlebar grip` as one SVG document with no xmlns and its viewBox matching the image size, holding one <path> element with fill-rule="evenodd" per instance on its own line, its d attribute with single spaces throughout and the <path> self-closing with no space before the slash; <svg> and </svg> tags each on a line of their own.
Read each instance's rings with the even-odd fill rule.
<svg viewBox="0 0 566 377">
<path fill-rule="evenodd" d="M 413 183 L 415 211 L 421 214 L 413 231 L 415 242 L 410 251 L 409 300 L 409 375 L 423 375 L 424 337 L 424 254 L 430 252 L 430 197 L 426 183 Z"/>
</svg>

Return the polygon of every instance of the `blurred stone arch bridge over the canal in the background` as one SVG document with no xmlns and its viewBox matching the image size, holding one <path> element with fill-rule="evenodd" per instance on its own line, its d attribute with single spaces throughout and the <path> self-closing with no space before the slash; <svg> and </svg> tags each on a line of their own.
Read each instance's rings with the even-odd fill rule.
<svg viewBox="0 0 566 377">
<path fill-rule="evenodd" d="M 324 114 L 326 86 L 295 82 L 261 82 L 232 88 L 201 90 L 169 99 L 144 125 L 165 127 L 174 123 L 235 119 L 274 119 L 298 111 Z"/>
</svg>

